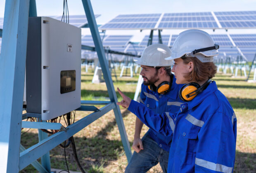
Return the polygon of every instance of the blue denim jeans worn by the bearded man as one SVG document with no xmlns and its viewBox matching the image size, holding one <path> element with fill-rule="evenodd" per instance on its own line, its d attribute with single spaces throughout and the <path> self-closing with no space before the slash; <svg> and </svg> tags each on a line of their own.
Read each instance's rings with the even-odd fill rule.
<svg viewBox="0 0 256 173">
<path fill-rule="evenodd" d="M 169 152 L 160 148 L 147 133 L 142 138 L 142 144 L 144 150 L 133 152 L 125 173 L 145 173 L 158 162 L 164 173 L 167 173 Z"/>
</svg>

